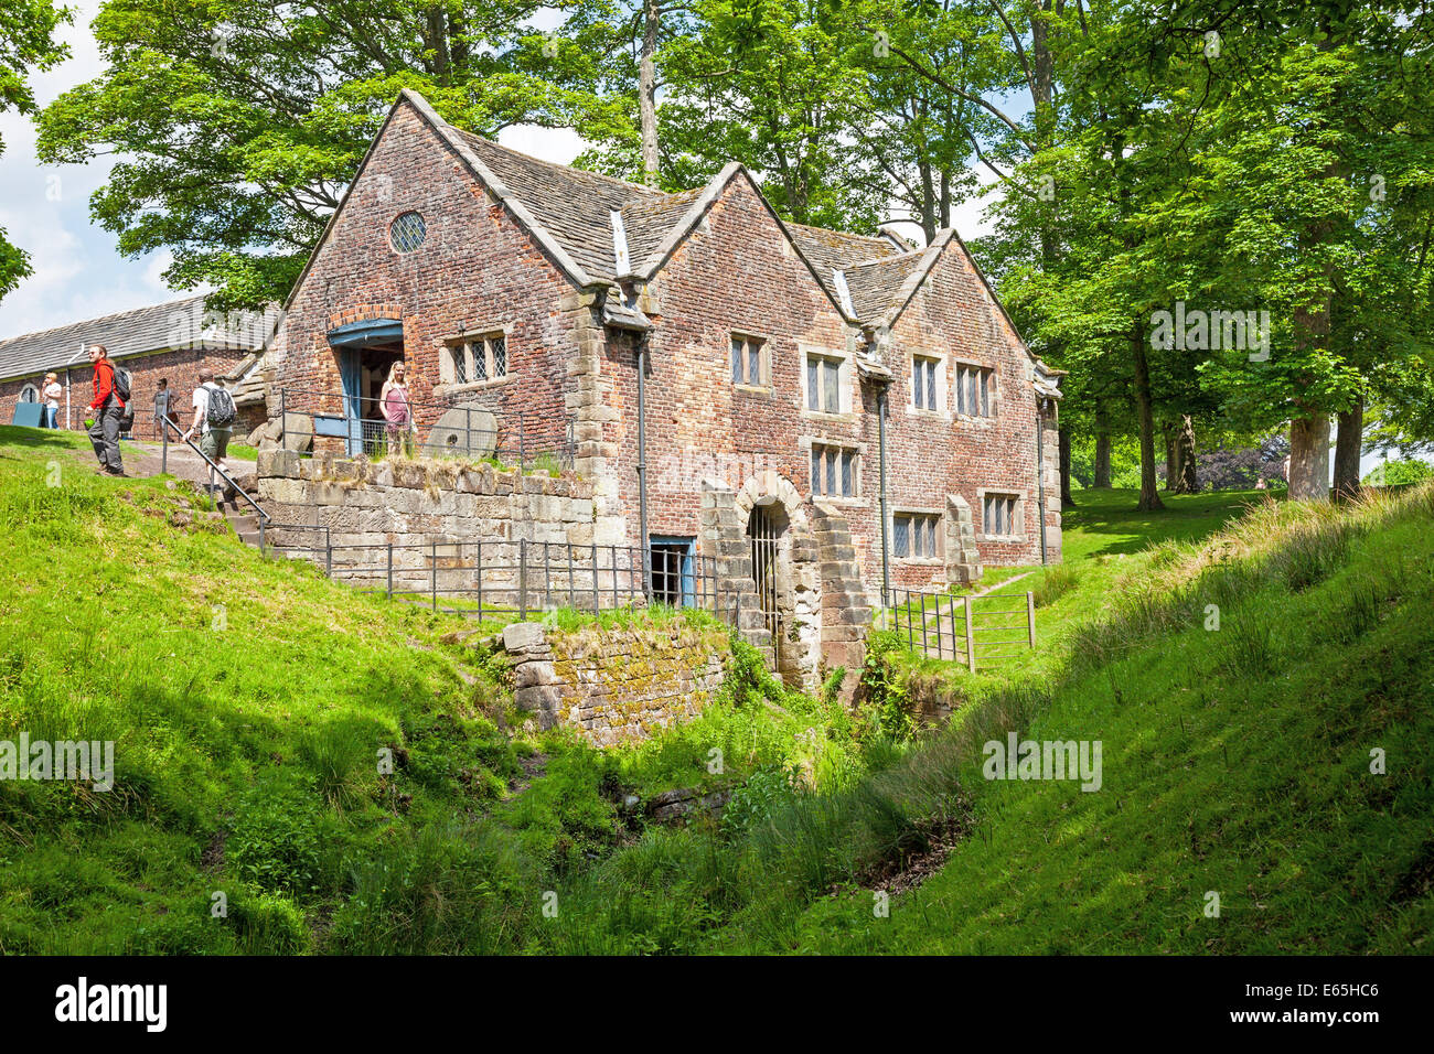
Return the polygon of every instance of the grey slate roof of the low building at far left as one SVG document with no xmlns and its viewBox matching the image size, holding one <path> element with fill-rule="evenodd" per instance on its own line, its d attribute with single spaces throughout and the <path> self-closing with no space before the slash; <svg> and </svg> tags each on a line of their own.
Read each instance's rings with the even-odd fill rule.
<svg viewBox="0 0 1434 1054">
<path fill-rule="evenodd" d="M 271 308 L 270 314 L 275 311 Z M 241 320 L 252 323 L 254 315 Z M 110 359 L 125 359 L 175 346 L 260 348 L 268 333 L 262 323 L 235 327 L 209 323 L 204 315 L 204 297 L 185 297 L 0 340 L 0 380 L 43 374 L 66 363 L 89 369 L 89 359 L 82 351 L 87 344 L 103 344 Z"/>
</svg>

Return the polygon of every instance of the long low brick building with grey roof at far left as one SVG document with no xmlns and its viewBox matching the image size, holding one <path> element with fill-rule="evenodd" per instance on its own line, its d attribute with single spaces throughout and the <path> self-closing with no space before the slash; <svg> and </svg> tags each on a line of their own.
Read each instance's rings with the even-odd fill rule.
<svg viewBox="0 0 1434 1054">
<path fill-rule="evenodd" d="M 0 340 L 0 420 L 14 420 L 20 403 L 39 402 L 44 374 L 54 371 L 69 387 L 67 400 L 60 402 L 60 427 L 83 427 L 93 376 L 86 350 L 103 344 L 132 374 L 132 435 L 138 439 L 159 437 L 153 419 L 159 380 L 169 381 L 175 417 L 182 422 L 204 367 L 234 393 L 235 432 L 242 436 L 267 417 L 260 359 L 277 317 L 277 307 L 219 315 L 195 295 Z"/>
</svg>

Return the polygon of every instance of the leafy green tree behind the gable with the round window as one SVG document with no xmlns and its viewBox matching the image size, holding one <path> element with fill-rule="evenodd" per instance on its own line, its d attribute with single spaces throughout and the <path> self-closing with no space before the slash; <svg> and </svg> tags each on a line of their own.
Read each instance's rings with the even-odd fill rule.
<svg viewBox="0 0 1434 1054">
<path fill-rule="evenodd" d="M 92 214 L 126 255 L 171 248 L 171 285 L 282 300 L 402 87 L 483 135 L 628 122 L 605 36 L 528 27 L 576 1 L 106 0 L 109 69 L 46 108 L 40 156 L 122 155 Z"/>
</svg>

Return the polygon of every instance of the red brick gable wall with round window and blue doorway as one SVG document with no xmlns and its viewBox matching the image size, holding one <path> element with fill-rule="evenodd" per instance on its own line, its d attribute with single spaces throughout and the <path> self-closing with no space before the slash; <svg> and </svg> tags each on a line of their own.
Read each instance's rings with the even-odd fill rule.
<svg viewBox="0 0 1434 1054">
<path fill-rule="evenodd" d="M 426 237 L 416 251 L 397 252 L 389 228 L 409 211 L 422 214 Z M 288 305 L 271 357 L 275 390 L 290 389 L 290 410 L 337 410 L 337 400 L 320 407 L 294 394 L 341 390 L 327 333 L 353 321 L 402 318 L 414 402 L 478 403 L 503 424 L 516 426 L 522 414 L 531 436 L 561 439 L 574 341 L 558 301 L 568 290 L 568 280 L 462 159 L 412 106 L 399 106 Z M 508 334 L 508 379 L 443 384 L 446 343 L 495 330 Z M 277 402 L 270 413 L 278 413 Z M 416 410 L 422 424 L 439 413 Z"/>
</svg>

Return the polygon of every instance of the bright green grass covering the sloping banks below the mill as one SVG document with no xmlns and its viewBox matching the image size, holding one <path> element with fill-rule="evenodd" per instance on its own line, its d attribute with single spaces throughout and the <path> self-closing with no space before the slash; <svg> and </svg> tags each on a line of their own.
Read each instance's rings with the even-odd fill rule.
<svg viewBox="0 0 1434 1054">
<path fill-rule="evenodd" d="M 1034 652 L 971 675 L 878 637 L 849 710 L 737 647 L 697 720 L 598 751 L 532 728 L 466 619 L 171 526 L 186 490 L 87 459 L 0 429 L 0 739 L 118 767 L 0 783 L 3 952 L 1428 951 L 1434 488 L 1098 495 L 1032 576 Z M 1007 731 L 1098 739 L 1101 789 L 982 779 Z M 723 819 L 622 809 L 678 786 Z"/>
</svg>

